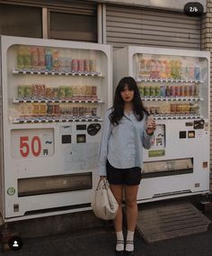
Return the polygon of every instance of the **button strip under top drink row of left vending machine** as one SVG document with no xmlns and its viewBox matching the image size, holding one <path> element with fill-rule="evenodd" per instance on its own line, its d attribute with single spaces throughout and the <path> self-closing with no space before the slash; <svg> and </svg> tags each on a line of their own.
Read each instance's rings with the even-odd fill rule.
<svg viewBox="0 0 212 256">
<path fill-rule="evenodd" d="M 104 78 L 100 72 L 57 72 L 57 71 L 38 71 L 38 70 L 22 70 L 13 69 L 13 74 L 23 75 L 51 75 L 51 76 L 79 76 L 79 77 L 97 77 Z"/>
</svg>

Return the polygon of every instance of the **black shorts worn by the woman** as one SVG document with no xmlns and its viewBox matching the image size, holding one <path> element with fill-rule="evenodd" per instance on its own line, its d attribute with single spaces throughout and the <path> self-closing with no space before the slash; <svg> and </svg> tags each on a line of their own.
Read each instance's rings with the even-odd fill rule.
<svg viewBox="0 0 212 256">
<path fill-rule="evenodd" d="M 139 185 L 141 181 L 141 169 L 133 167 L 128 169 L 117 169 L 110 165 L 109 160 L 106 162 L 107 179 L 110 184 L 128 186 Z"/>
</svg>

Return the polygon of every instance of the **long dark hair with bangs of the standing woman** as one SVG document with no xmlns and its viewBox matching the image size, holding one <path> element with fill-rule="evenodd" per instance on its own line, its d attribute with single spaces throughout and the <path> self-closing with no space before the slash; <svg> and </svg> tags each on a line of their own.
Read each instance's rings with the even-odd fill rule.
<svg viewBox="0 0 212 256">
<path fill-rule="evenodd" d="M 131 77 L 121 78 L 119 80 L 118 87 L 116 87 L 112 112 L 110 113 L 110 122 L 113 125 L 118 125 L 119 121 L 124 115 L 124 101 L 120 93 L 124 90 L 126 86 L 128 86 L 129 90 L 134 91 L 132 103 L 133 113 L 137 117 L 137 121 L 141 121 L 144 118 L 144 114 L 149 115 L 144 105 L 142 104 L 141 97 L 137 87 L 137 82 L 135 81 L 135 79 Z"/>
</svg>

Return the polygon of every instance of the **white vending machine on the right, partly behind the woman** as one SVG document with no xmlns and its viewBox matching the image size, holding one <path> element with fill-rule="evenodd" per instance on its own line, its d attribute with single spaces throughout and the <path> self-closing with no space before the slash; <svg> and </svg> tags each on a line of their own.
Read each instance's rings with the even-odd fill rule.
<svg viewBox="0 0 212 256">
<path fill-rule="evenodd" d="M 137 201 L 207 194 L 209 52 L 128 46 L 113 56 L 114 85 L 135 78 L 156 123 L 155 141 L 144 150 Z"/>
</svg>

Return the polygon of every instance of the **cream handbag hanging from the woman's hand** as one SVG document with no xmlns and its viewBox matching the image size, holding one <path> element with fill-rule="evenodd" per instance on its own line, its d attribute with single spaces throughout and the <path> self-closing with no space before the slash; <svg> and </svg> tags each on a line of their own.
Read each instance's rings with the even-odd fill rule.
<svg viewBox="0 0 212 256">
<path fill-rule="evenodd" d="M 105 178 L 99 181 L 94 191 L 92 209 L 94 215 L 103 220 L 112 220 L 117 215 L 119 205 L 110 190 L 108 180 Z"/>
</svg>

